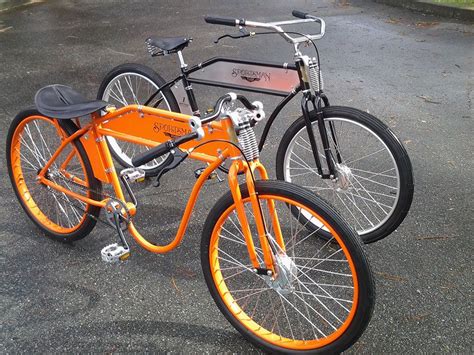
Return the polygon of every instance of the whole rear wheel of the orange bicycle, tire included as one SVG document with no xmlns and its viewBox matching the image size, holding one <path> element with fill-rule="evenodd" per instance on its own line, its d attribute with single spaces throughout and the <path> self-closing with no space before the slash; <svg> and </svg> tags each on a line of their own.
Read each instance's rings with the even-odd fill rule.
<svg viewBox="0 0 474 355">
<path fill-rule="evenodd" d="M 7 165 L 16 196 L 31 220 L 49 237 L 72 242 L 91 232 L 100 208 L 37 181 L 38 172 L 60 146 L 61 136 L 77 129 L 71 121 L 63 121 L 61 127 L 36 110 L 20 112 L 8 131 Z M 77 194 L 100 199 L 101 183 L 94 177 L 80 141 L 66 146 L 46 177 Z"/>
</svg>

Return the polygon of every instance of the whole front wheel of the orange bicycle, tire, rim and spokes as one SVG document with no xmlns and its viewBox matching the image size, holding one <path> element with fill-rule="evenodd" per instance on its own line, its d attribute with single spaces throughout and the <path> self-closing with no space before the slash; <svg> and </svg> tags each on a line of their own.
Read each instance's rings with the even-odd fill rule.
<svg viewBox="0 0 474 355">
<path fill-rule="evenodd" d="M 257 181 L 255 188 L 270 239 L 275 228 L 269 202 L 275 205 L 285 252 L 274 255 L 276 276 L 255 273 L 232 195 L 225 194 L 209 213 L 201 242 L 202 268 L 214 301 L 245 338 L 271 353 L 347 349 L 369 323 L 375 298 L 357 235 L 324 201 L 299 186 Z M 241 191 L 262 264 L 245 185 Z M 305 228 L 299 220 L 303 213 L 331 231 L 330 240 Z"/>
</svg>

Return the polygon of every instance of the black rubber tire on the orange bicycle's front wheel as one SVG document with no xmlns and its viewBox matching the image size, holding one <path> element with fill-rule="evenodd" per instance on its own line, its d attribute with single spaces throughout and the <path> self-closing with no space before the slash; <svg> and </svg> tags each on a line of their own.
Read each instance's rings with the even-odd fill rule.
<svg viewBox="0 0 474 355">
<path fill-rule="evenodd" d="M 203 230 L 202 240 L 201 240 L 201 264 L 202 264 L 202 269 L 203 269 L 203 273 L 204 273 L 204 278 L 206 280 L 207 286 L 209 288 L 209 291 L 210 291 L 214 301 L 216 302 L 217 306 L 219 307 L 219 309 L 223 313 L 223 315 L 227 318 L 227 320 L 248 341 L 250 341 L 251 343 L 253 343 L 257 347 L 262 348 L 265 351 L 268 351 L 270 353 L 294 353 L 294 354 L 326 353 L 327 354 L 327 353 L 338 353 L 338 352 L 344 351 L 345 349 L 350 347 L 352 344 L 354 344 L 357 341 L 357 339 L 360 337 L 360 335 L 364 332 L 365 328 L 367 327 L 367 325 L 370 321 L 372 311 L 373 311 L 373 307 L 374 307 L 374 302 L 375 302 L 375 285 L 374 285 L 374 281 L 373 281 L 373 278 L 372 278 L 372 273 L 371 273 L 368 261 L 367 261 L 367 259 L 365 257 L 365 254 L 363 253 L 363 250 L 361 248 L 361 242 L 360 242 L 359 238 L 357 237 L 355 232 L 349 227 L 349 225 L 347 225 L 342 220 L 342 218 L 327 203 L 325 203 L 321 198 L 319 198 L 315 194 L 313 194 L 313 193 L 311 193 L 311 192 L 309 192 L 309 191 L 307 191 L 307 190 L 305 190 L 305 189 L 303 189 L 299 186 L 289 184 L 285 181 L 257 181 L 256 184 L 255 184 L 255 187 L 256 187 L 256 192 L 257 192 L 259 198 L 261 198 L 261 199 L 265 199 L 266 198 L 265 196 L 267 196 L 267 197 L 269 196 L 274 201 L 278 201 L 277 199 L 281 198 L 281 200 L 280 200 L 281 204 L 280 204 L 280 202 L 278 204 L 278 206 L 281 208 L 279 211 L 282 211 L 284 209 L 286 209 L 286 210 L 288 209 L 288 205 L 286 205 L 286 203 L 283 202 L 284 201 L 283 199 L 286 198 L 286 199 L 289 199 L 291 201 L 298 202 L 301 206 L 304 206 L 304 208 L 308 208 L 311 211 L 317 213 L 317 215 L 320 218 L 324 219 L 330 226 L 332 226 L 334 228 L 335 233 L 340 236 L 340 239 L 342 240 L 342 243 L 347 248 L 348 253 L 350 254 L 350 256 L 353 260 L 354 269 L 356 270 L 356 275 L 357 275 L 357 280 L 358 280 L 357 286 L 358 286 L 358 290 L 359 290 L 359 302 L 357 304 L 357 307 L 354 307 L 354 309 L 355 309 L 354 317 L 352 318 L 352 320 L 349 323 L 348 327 L 345 329 L 345 331 L 339 337 L 337 337 L 335 339 L 332 339 L 331 342 L 329 342 L 328 344 L 323 344 L 324 346 L 321 346 L 321 347 L 318 347 L 318 348 L 310 348 L 310 349 L 307 348 L 307 349 L 304 349 L 304 350 L 294 349 L 294 348 L 291 348 L 291 347 L 288 347 L 288 346 L 286 346 L 286 347 L 285 346 L 279 346 L 278 344 L 272 344 L 269 341 L 266 341 L 265 339 L 260 337 L 257 334 L 257 332 L 259 331 L 259 329 L 264 329 L 265 328 L 265 326 L 264 326 L 265 325 L 265 319 L 263 320 L 262 323 L 258 323 L 258 321 L 255 320 L 255 319 L 258 319 L 257 313 L 259 313 L 256 310 L 257 305 L 255 305 L 255 308 L 253 309 L 253 312 L 252 312 L 252 316 L 250 317 L 250 318 L 252 318 L 253 321 L 257 322 L 257 324 L 259 325 L 257 330 L 254 332 L 250 328 L 247 328 L 246 326 L 244 326 L 242 324 L 245 320 L 239 320 L 237 318 L 238 317 L 237 315 L 242 314 L 242 312 L 237 312 L 236 313 L 237 315 L 234 315 L 233 312 L 230 311 L 228 306 L 226 305 L 226 301 L 223 300 L 223 298 L 226 297 L 227 294 L 230 294 L 231 291 L 227 291 L 226 293 L 224 293 L 224 296 L 222 296 L 220 294 L 219 290 L 218 290 L 218 287 L 221 289 L 221 292 L 222 292 L 222 287 L 224 287 L 225 290 L 230 289 L 230 288 L 228 288 L 228 286 L 230 284 L 230 281 L 229 281 L 230 278 L 228 278 L 228 277 L 224 278 L 222 273 L 219 274 L 219 272 L 226 269 L 226 267 L 221 268 L 219 265 L 217 265 L 217 269 L 216 269 L 216 266 L 211 267 L 211 263 L 216 264 L 215 261 L 213 262 L 212 260 L 220 259 L 221 260 L 220 263 L 224 262 L 224 261 L 222 261 L 222 258 L 220 256 L 212 256 L 212 254 L 213 253 L 214 254 L 215 253 L 220 253 L 221 252 L 220 249 L 224 248 L 226 240 L 228 239 L 227 237 L 224 237 L 224 236 L 221 235 L 221 233 L 224 233 L 223 231 L 225 231 L 225 233 L 227 233 L 227 231 L 228 231 L 227 228 L 223 227 L 224 224 L 221 222 L 221 220 L 223 218 L 225 218 L 225 220 L 227 220 L 228 216 L 230 216 L 230 212 L 228 212 L 228 211 L 234 205 L 233 198 L 232 198 L 232 195 L 231 195 L 230 192 L 228 192 L 224 196 L 222 196 L 219 199 L 219 201 L 214 205 L 214 207 L 211 209 L 211 211 L 210 211 L 210 213 L 209 213 L 209 215 L 206 219 L 205 225 L 204 225 L 204 230 Z M 242 192 L 242 198 L 243 199 L 247 198 L 248 197 L 248 190 L 247 190 L 246 185 L 245 184 L 241 185 L 240 189 L 241 189 L 241 192 Z M 262 206 L 263 206 L 263 204 L 264 203 L 262 202 Z M 280 223 L 281 223 L 281 217 L 282 217 L 283 213 L 279 212 L 278 215 L 279 215 L 279 219 L 280 219 Z M 289 216 L 290 218 L 292 216 L 291 213 L 289 213 L 289 212 L 285 215 Z M 235 220 L 235 218 L 234 218 L 234 220 Z M 238 221 L 237 221 L 237 223 L 238 223 Z M 295 224 L 297 224 L 297 223 L 295 223 Z M 240 224 L 238 224 L 238 225 L 234 224 L 234 226 L 236 226 L 236 228 L 237 228 L 237 227 L 240 226 Z M 288 230 L 288 228 L 287 228 L 287 230 Z M 304 228 L 301 228 L 301 230 L 304 230 Z M 215 240 L 215 238 L 219 238 L 219 242 L 218 242 L 218 244 L 216 244 L 216 245 L 219 246 L 219 248 L 214 247 L 214 251 L 211 250 L 211 249 L 213 249 L 213 247 L 211 246 L 211 243 L 215 243 L 215 241 L 213 241 L 213 239 L 212 239 L 213 235 L 218 235 L 219 236 L 219 237 L 214 237 L 214 240 Z M 232 235 L 232 234 L 229 232 L 228 236 L 230 236 L 230 235 Z M 309 237 L 305 237 L 305 238 L 308 239 Z M 293 241 L 293 239 L 291 239 L 291 240 L 292 240 L 292 243 L 295 243 L 295 241 Z M 286 243 L 286 241 L 285 241 L 285 243 Z M 315 235 L 314 238 L 308 239 L 308 243 L 310 243 L 310 245 L 312 245 L 314 247 L 317 247 L 318 243 L 320 243 L 320 244 L 326 243 L 326 245 L 329 245 L 331 248 L 333 247 L 333 244 L 322 241 L 321 238 L 318 238 L 316 235 Z M 237 245 L 239 245 L 239 244 L 242 244 L 242 243 L 238 243 Z M 299 243 L 296 243 L 296 244 L 299 244 Z M 296 244 L 295 244 L 295 247 L 296 247 Z M 234 244 L 232 244 L 232 246 L 233 245 Z M 291 242 L 287 243 L 286 246 L 287 246 L 287 251 L 290 253 Z M 240 246 L 240 247 L 242 248 L 242 246 Z M 307 250 L 307 245 L 304 247 L 304 249 Z M 310 252 L 310 254 L 313 255 L 314 249 L 312 249 L 312 248 L 309 248 L 309 249 L 311 249 L 311 250 L 308 251 L 308 252 Z M 218 251 L 216 251 L 216 250 L 218 250 Z M 320 251 L 321 251 L 321 249 L 319 249 L 318 253 Z M 226 255 L 230 255 L 230 254 L 223 253 L 222 255 L 226 256 Z M 236 255 L 236 254 L 234 254 L 234 255 Z M 239 260 L 242 263 L 244 263 L 244 262 L 248 263 L 249 262 L 248 261 L 248 254 L 246 254 L 246 251 L 242 255 L 244 256 L 244 258 L 245 258 L 245 255 L 247 255 L 247 259 L 246 260 L 244 260 L 244 259 L 234 259 L 234 258 L 230 258 L 230 256 L 229 256 L 229 259 L 234 260 L 234 262 L 235 262 L 235 260 Z M 320 257 L 325 257 L 325 256 L 320 256 Z M 211 258 L 212 258 L 212 260 L 211 260 Z M 295 253 L 293 252 L 293 260 L 296 260 L 296 259 L 298 259 L 298 258 L 295 258 Z M 302 259 L 302 258 L 299 258 L 299 259 Z M 305 259 L 305 258 L 303 258 L 303 259 Z M 232 263 L 231 263 L 231 265 L 232 265 Z M 308 264 L 306 264 L 306 265 L 308 265 Z M 297 265 L 297 266 L 300 267 L 299 265 Z M 321 268 L 322 268 L 322 266 L 321 266 Z M 303 270 L 303 269 L 298 269 L 296 271 L 296 274 L 301 275 L 301 270 Z M 245 271 L 246 270 L 244 270 L 244 272 Z M 222 280 L 222 281 L 214 281 L 213 273 L 215 275 L 218 275 L 218 276 L 216 276 L 216 279 L 219 279 L 219 280 Z M 239 272 L 237 272 L 237 275 L 239 275 Z M 256 275 L 255 273 L 250 273 L 250 274 L 247 273 L 246 275 L 248 277 L 253 277 L 253 276 L 258 277 L 258 275 Z M 354 275 L 354 274 L 352 274 L 352 275 Z M 234 276 L 232 276 L 232 277 L 233 277 L 232 280 L 235 280 L 235 277 Z M 303 277 L 303 276 L 301 276 L 301 277 Z M 298 278 L 296 278 L 296 279 L 298 280 L 297 283 L 299 283 L 300 282 L 299 279 Z M 320 282 L 319 278 L 318 278 L 318 282 Z M 219 284 L 219 286 L 217 287 L 216 284 Z M 222 284 L 225 284 L 225 285 L 222 286 Z M 255 284 L 253 284 L 253 285 L 254 285 L 253 287 L 258 287 L 258 285 L 257 286 L 255 286 Z M 237 288 L 239 288 L 239 287 L 237 286 Z M 300 290 L 301 290 L 301 287 L 300 287 Z M 242 290 L 239 289 L 238 291 L 235 291 L 235 292 L 241 292 L 241 291 Z M 276 300 L 281 301 L 281 297 L 280 298 L 278 297 L 278 293 L 277 293 L 277 291 L 275 291 L 275 289 L 273 289 L 273 290 L 269 289 L 269 291 L 272 292 L 272 294 L 270 296 L 270 301 L 271 301 L 271 299 L 276 299 Z M 242 295 L 242 294 L 240 293 L 240 295 Z M 287 296 L 287 297 L 290 297 L 290 296 Z M 232 300 L 234 300 L 234 298 L 232 298 Z M 227 301 L 229 301 L 229 300 L 227 300 Z M 237 301 L 238 300 L 235 301 L 235 304 L 237 304 Z M 275 302 L 277 302 L 277 301 L 275 301 Z M 257 304 L 258 303 L 259 302 L 257 301 Z M 272 306 L 270 306 L 270 303 L 272 304 Z M 234 301 L 230 302 L 230 304 L 234 305 Z M 268 300 L 264 301 L 262 299 L 260 304 L 261 305 L 262 304 L 266 305 L 266 306 L 264 306 L 264 309 L 267 309 L 268 312 L 270 312 L 270 308 L 273 307 L 273 301 L 269 302 Z M 282 304 L 283 304 L 283 302 L 282 302 Z M 242 310 L 243 313 L 245 314 L 245 316 L 248 317 L 246 315 L 246 312 L 243 309 L 241 309 L 240 306 L 238 306 L 238 307 L 239 307 L 239 310 Z M 269 308 L 266 308 L 266 307 L 269 307 Z M 285 307 L 283 306 L 283 308 L 285 308 Z M 289 309 L 291 311 L 291 308 L 289 308 Z M 234 310 L 234 312 L 235 312 L 235 310 Z M 281 309 L 280 309 L 279 312 L 281 312 Z M 287 311 L 285 310 L 285 312 L 284 312 L 285 315 L 287 314 L 286 312 Z M 278 314 L 279 313 L 277 313 L 276 318 L 278 318 Z M 257 318 L 254 318 L 254 317 L 257 317 Z M 283 317 L 283 315 L 282 315 L 282 317 Z M 291 315 L 287 316 L 287 319 L 288 319 L 288 317 L 290 319 L 293 319 L 291 317 Z M 288 322 L 289 322 L 289 320 L 288 320 Z M 271 322 L 270 322 L 270 324 L 271 324 Z M 282 333 L 282 330 L 280 330 L 280 325 L 277 325 L 277 328 L 278 328 L 278 332 Z M 300 323 L 300 328 L 301 328 L 301 323 Z M 291 329 L 291 326 L 290 326 L 290 329 Z M 265 330 L 265 332 L 267 332 L 267 331 Z M 272 328 L 272 332 L 274 332 L 273 328 Z M 297 333 L 296 330 L 295 330 L 295 333 Z M 281 337 L 280 337 L 280 339 L 281 339 Z"/>
</svg>

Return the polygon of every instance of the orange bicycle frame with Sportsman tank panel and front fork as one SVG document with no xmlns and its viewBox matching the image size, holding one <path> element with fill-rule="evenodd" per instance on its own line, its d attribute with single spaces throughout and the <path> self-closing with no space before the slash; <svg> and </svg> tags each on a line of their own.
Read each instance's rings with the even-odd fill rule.
<svg viewBox="0 0 474 355">
<path fill-rule="evenodd" d="M 75 199 L 83 201 L 84 203 L 105 207 L 108 199 L 97 201 L 88 198 L 87 196 L 83 196 L 59 186 L 46 178 L 46 172 L 53 161 L 60 155 L 61 151 L 73 140 L 79 139 L 89 157 L 94 176 L 104 183 L 111 184 L 116 197 L 126 203 L 127 206 L 130 206 L 131 212 L 134 213 L 135 209 L 133 204 L 126 202 L 125 200 L 125 196 L 120 185 L 120 181 L 115 170 L 105 136 L 114 137 L 115 139 L 148 147 L 154 147 L 170 140 L 171 138 L 190 133 L 190 119 L 191 116 L 180 113 L 173 113 L 151 107 L 130 105 L 117 110 L 108 110 L 104 116 L 93 114 L 91 121 L 83 127 L 79 127 L 79 129 L 71 136 L 66 136 L 61 130 L 59 123 L 54 121 L 58 133 L 60 133 L 62 136 L 62 142 L 60 147 L 52 155 L 51 159 L 39 172 L 38 179 L 41 183 L 63 192 Z M 257 224 L 258 237 L 263 250 L 265 266 L 266 268 L 273 270 L 272 252 L 268 242 L 268 236 L 266 235 L 267 229 L 263 220 L 263 216 L 261 215 L 261 209 L 259 205 L 260 202 L 258 200 L 253 183 L 253 175 L 255 171 L 259 173 L 262 179 L 268 179 L 267 172 L 264 166 L 258 160 L 254 160 L 249 164 L 245 163 L 242 160 L 243 158 L 241 157 L 240 150 L 236 146 L 223 142 L 227 141 L 234 144 L 237 144 L 238 142 L 234 126 L 230 118 L 213 121 L 204 125 L 203 129 L 205 134 L 202 140 L 193 140 L 180 146 L 181 149 L 186 150 L 189 153 L 189 157 L 206 162 L 208 166 L 194 184 L 175 238 L 167 245 L 159 246 L 152 244 L 138 232 L 135 225 L 133 224 L 133 221 L 131 221 L 128 225 L 128 231 L 137 241 L 137 243 L 140 244 L 140 246 L 153 253 L 167 253 L 175 249 L 181 243 L 184 237 L 192 210 L 204 182 L 209 178 L 214 170 L 216 170 L 226 159 L 230 158 L 232 159 L 232 165 L 228 174 L 229 187 L 232 192 L 239 222 L 243 229 L 242 232 L 247 244 L 249 258 L 255 268 L 261 267 L 257 260 L 254 242 L 244 210 L 244 203 L 242 201 L 242 195 L 237 179 L 237 173 L 239 171 L 243 171 L 246 176 L 246 184 Z M 219 140 L 219 142 L 215 142 L 215 140 Z M 203 144 L 203 142 L 208 143 Z M 199 147 L 196 148 L 198 145 Z M 73 154 L 74 153 L 71 153 L 66 157 L 65 161 L 60 164 L 60 169 L 66 177 L 73 179 L 75 183 L 86 186 L 84 181 L 67 173 L 66 168 L 69 161 L 72 159 Z M 273 201 L 268 201 L 268 207 L 275 232 L 275 240 L 279 244 L 280 248 L 284 250 L 284 242 Z"/>
</svg>

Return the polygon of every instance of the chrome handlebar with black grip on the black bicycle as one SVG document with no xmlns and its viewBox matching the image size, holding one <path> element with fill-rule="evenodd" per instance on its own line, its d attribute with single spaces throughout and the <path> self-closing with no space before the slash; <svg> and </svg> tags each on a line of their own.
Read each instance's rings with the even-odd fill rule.
<svg viewBox="0 0 474 355">
<path fill-rule="evenodd" d="M 223 26 L 265 28 L 267 30 L 271 30 L 280 34 L 280 36 L 282 36 L 287 42 L 292 43 L 294 45 L 298 45 L 299 43 L 307 42 L 309 40 L 313 41 L 313 40 L 318 40 L 318 39 L 323 38 L 324 33 L 326 31 L 326 23 L 324 22 L 323 19 L 310 15 L 309 13 L 298 11 L 298 10 L 293 10 L 292 15 L 300 18 L 300 20 L 265 23 L 265 22 L 247 21 L 245 19 L 235 19 L 235 18 L 229 18 L 229 17 L 214 17 L 214 16 L 205 16 L 204 20 L 207 23 L 223 25 Z M 282 26 L 296 25 L 299 23 L 307 23 L 307 22 L 319 23 L 320 25 L 319 33 L 304 35 L 300 37 L 291 37 L 288 33 L 286 33 L 282 29 Z"/>
</svg>

